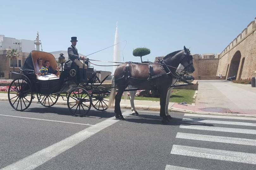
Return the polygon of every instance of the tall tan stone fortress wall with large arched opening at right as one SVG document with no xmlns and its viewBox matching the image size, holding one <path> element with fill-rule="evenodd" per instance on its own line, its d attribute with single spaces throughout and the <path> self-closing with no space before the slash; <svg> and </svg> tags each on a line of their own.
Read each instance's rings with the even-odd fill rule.
<svg viewBox="0 0 256 170">
<path fill-rule="evenodd" d="M 237 54 L 241 54 L 240 61 L 237 61 L 237 80 L 256 76 L 256 18 L 245 28 L 220 54 L 217 74 L 229 77 L 233 70 L 231 60 Z M 236 55 L 235 55 L 236 54 Z M 244 62 L 242 62 L 244 59 Z M 233 61 L 235 58 L 233 59 Z M 234 64 L 234 63 L 233 63 Z"/>
</svg>

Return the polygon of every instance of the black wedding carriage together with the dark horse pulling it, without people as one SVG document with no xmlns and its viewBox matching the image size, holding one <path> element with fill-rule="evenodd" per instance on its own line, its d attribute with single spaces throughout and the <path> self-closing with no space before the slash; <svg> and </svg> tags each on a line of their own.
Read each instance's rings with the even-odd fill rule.
<svg viewBox="0 0 256 170">
<path fill-rule="evenodd" d="M 131 92 L 132 114 L 138 115 L 134 107 L 135 91 L 153 89 L 160 93 L 160 116 L 162 122 L 167 123 L 171 119 L 168 113 L 168 104 L 172 88 L 192 85 L 182 77 L 184 73 L 194 71 L 193 57 L 189 49 L 184 46 L 183 50 L 174 51 L 153 63 L 125 62 L 119 65 L 113 76 L 112 87 L 104 88 L 101 87 L 101 84 L 111 72 L 94 71 L 94 68 L 89 66 L 84 75 L 88 81 L 80 82 L 77 76 L 78 67 L 74 62 L 71 68 L 64 67 L 61 74 L 58 72 L 57 75 L 60 76 L 40 80 L 35 74 L 34 67 L 34 62 L 38 58 L 49 60 L 52 68 L 57 66 L 54 56 L 50 53 L 32 51 L 29 54 L 21 68 L 22 73 L 13 72 L 14 80 L 8 89 L 9 103 L 15 110 L 26 110 L 35 96 L 38 103 L 45 107 L 53 106 L 61 97 L 63 100 L 66 98 L 70 112 L 76 116 L 85 116 L 91 106 L 96 110 L 103 111 L 115 103 L 115 117 L 124 120 L 120 109 L 123 92 Z M 83 62 L 90 65 L 89 59 L 83 60 Z M 175 85 L 178 80 L 187 84 Z M 109 100 L 106 99 L 108 97 Z"/>
</svg>

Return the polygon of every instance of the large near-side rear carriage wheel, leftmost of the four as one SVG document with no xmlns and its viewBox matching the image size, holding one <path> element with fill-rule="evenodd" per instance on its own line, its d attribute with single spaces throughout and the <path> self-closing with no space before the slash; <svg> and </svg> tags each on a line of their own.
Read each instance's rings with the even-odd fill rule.
<svg viewBox="0 0 256 170">
<path fill-rule="evenodd" d="M 11 82 L 8 88 L 8 100 L 15 110 L 26 110 L 32 103 L 32 99 L 32 88 L 27 80 L 16 78 Z"/>
</svg>

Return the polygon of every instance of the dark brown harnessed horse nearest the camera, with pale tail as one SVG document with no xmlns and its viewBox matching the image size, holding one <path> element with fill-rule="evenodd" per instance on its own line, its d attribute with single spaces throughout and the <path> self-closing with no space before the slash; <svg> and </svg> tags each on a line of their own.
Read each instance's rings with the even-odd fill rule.
<svg viewBox="0 0 256 170">
<path fill-rule="evenodd" d="M 169 88 L 174 84 L 174 80 L 178 78 L 177 68 L 182 66 L 186 72 L 195 71 L 192 55 L 189 49 L 184 46 L 183 50 L 174 51 L 167 54 L 162 60 L 154 63 L 132 63 L 125 62 L 119 65 L 114 73 L 112 81 L 112 89 L 110 92 L 109 106 L 115 101 L 115 117 L 125 120 L 120 108 L 120 101 L 125 88 L 128 85 L 144 90 L 158 90 L 160 93 L 160 117 L 162 123 L 168 123 L 171 116 L 166 115 L 166 105 L 169 101 Z M 116 89 L 118 92 L 116 94 Z M 167 108 L 168 109 L 168 108 Z M 168 112 L 168 110 L 167 110 Z"/>
</svg>

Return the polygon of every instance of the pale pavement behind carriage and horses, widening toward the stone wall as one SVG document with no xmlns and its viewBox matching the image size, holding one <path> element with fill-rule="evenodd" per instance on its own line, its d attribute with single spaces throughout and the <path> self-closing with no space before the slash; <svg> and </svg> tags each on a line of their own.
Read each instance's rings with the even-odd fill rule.
<svg viewBox="0 0 256 170">
<path fill-rule="evenodd" d="M 7 100 L 6 93 L 0 93 L 0 100 Z M 58 100 L 57 104 L 66 101 Z M 135 100 L 137 110 L 159 110 L 160 102 Z M 236 115 L 256 115 L 256 88 L 229 81 L 199 80 L 195 105 L 169 103 L 173 111 L 192 113 L 225 113 Z M 130 101 L 121 100 L 122 108 L 130 108 Z"/>
</svg>

